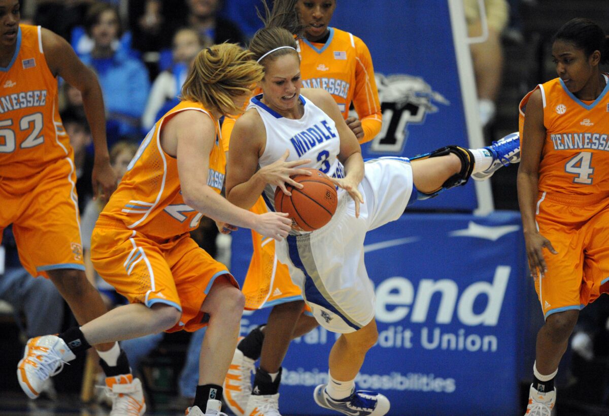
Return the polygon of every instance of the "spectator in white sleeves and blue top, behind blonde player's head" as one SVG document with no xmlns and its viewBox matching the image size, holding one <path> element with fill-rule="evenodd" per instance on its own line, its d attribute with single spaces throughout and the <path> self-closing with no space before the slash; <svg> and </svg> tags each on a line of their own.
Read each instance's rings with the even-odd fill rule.
<svg viewBox="0 0 609 416">
<path fill-rule="evenodd" d="M 146 110 L 142 117 L 142 126 L 148 131 L 158 120 L 159 110 L 167 101 L 172 101 L 186 80 L 189 62 L 206 46 L 211 46 L 208 38 L 189 27 L 178 30 L 174 35 L 174 63 L 166 71 L 159 74 L 152 84 Z M 162 115 L 162 114 L 161 114 Z"/>
</svg>

